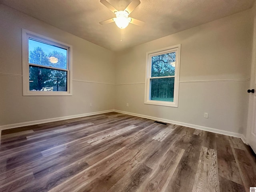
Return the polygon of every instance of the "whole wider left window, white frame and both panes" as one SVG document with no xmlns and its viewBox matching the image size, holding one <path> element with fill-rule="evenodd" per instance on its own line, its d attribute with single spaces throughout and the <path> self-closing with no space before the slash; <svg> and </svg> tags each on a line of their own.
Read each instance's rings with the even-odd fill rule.
<svg viewBox="0 0 256 192">
<path fill-rule="evenodd" d="M 72 46 L 22 29 L 23 95 L 72 95 Z"/>
</svg>

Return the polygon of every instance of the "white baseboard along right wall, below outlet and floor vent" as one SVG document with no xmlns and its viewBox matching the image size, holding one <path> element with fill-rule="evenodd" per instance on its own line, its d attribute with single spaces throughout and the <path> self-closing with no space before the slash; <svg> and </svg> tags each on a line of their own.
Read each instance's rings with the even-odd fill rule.
<svg viewBox="0 0 256 192">
<path fill-rule="evenodd" d="M 240 133 L 229 132 L 229 131 L 214 129 L 214 128 L 210 128 L 210 127 L 204 127 L 204 126 L 199 126 L 199 125 L 194 125 L 194 124 L 188 124 L 188 123 L 183 123 L 183 122 L 178 122 L 178 121 L 172 121 L 172 120 L 168 120 L 168 119 L 162 119 L 162 118 L 157 118 L 157 117 L 152 117 L 152 116 L 147 116 L 147 115 L 142 115 L 142 114 L 136 114 L 136 113 L 126 112 L 126 111 L 120 111 L 120 110 L 114 110 L 114 111 L 118 112 L 118 113 L 123 113 L 123 114 L 143 117 L 143 118 L 147 118 L 147 119 L 162 121 L 162 122 L 166 122 L 166 123 L 186 126 L 186 127 L 190 127 L 190 128 L 204 130 L 204 131 L 209 131 L 209 132 L 218 133 L 218 134 L 222 134 L 222 135 L 238 137 L 238 138 L 241 138 L 243 142 L 244 142 L 243 139 L 245 139 L 245 138 L 242 138 L 242 134 L 240 134 Z"/>
</svg>

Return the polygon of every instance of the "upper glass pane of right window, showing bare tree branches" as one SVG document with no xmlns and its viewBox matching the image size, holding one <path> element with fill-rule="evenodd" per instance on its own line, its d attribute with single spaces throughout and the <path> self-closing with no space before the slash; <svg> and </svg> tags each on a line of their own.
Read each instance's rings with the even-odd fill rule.
<svg viewBox="0 0 256 192">
<path fill-rule="evenodd" d="M 151 77 L 175 75 L 176 52 L 152 57 Z"/>
</svg>

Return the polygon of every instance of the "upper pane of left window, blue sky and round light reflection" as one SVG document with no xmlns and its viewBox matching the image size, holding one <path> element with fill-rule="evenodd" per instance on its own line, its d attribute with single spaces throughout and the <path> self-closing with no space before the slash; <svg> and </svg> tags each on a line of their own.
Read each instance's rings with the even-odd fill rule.
<svg viewBox="0 0 256 192">
<path fill-rule="evenodd" d="M 28 39 L 28 62 L 67 69 L 67 50 L 37 40 Z"/>
</svg>

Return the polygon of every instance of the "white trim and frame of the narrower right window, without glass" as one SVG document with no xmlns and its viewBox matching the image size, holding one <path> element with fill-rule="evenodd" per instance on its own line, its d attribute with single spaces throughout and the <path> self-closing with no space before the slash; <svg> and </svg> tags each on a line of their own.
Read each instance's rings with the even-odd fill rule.
<svg viewBox="0 0 256 192">
<path fill-rule="evenodd" d="M 144 94 L 144 104 L 152 104 L 152 105 L 160 105 L 160 106 L 169 106 L 169 107 L 178 107 L 178 94 L 179 94 L 179 82 L 180 82 L 180 47 L 181 44 L 150 51 L 146 53 L 146 80 L 145 80 L 145 94 Z M 150 79 L 151 77 L 151 58 L 152 56 L 176 52 L 176 61 L 175 61 L 175 75 L 167 76 L 167 77 L 175 77 L 174 78 L 174 100 L 173 102 L 165 102 L 165 101 L 156 101 L 149 100 L 150 98 Z M 166 77 L 166 78 L 167 78 Z"/>
</svg>

